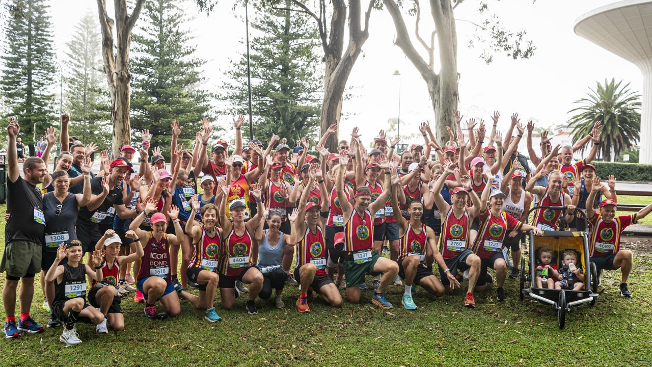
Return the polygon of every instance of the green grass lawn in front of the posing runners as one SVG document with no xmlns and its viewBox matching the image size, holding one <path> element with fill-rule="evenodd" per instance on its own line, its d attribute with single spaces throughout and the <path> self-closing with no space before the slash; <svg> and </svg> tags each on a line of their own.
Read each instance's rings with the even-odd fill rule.
<svg viewBox="0 0 652 367">
<path fill-rule="evenodd" d="M 4 211 L 0 205 L 0 217 Z M 475 310 L 462 306 L 461 292 L 435 300 L 419 289 L 421 308 L 407 311 L 400 305 L 403 287 L 391 286 L 387 296 L 396 308 L 389 312 L 372 306 L 371 291 L 363 291 L 363 304 L 345 302 L 334 310 L 315 300 L 312 313 L 301 315 L 293 308 L 298 289 L 290 286 L 286 310 L 258 300 L 258 315 L 247 315 L 238 300 L 235 310 L 218 310 L 224 321 L 215 324 L 187 301 L 180 317 L 148 321 L 143 306 L 127 297 L 125 331 L 98 336 L 95 327 L 79 325 L 83 343 L 75 347 L 59 342 L 61 328 L 5 340 L 1 365 L 649 366 L 652 255 L 635 259 L 629 281 L 634 297 L 619 296 L 619 272 L 607 272 L 595 306 L 572 309 L 564 330 L 549 306 L 531 298 L 520 302 L 518 282 L 509 279 L 506 302 L 498 303 L 490 288 L 476 293 Z M 45 325 L 36 284 L 32 314 Z"/>
</svg>

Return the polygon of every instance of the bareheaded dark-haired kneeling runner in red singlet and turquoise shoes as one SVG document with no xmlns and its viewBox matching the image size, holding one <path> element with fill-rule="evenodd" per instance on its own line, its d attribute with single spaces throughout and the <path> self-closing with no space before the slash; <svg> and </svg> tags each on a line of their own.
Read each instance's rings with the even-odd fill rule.
<svg viewBox="0 0 652 367">
<path fill-rule="evenodd" d="M 406 281 L 405 292 L 401 303 L 408 310 L 417 310 L 417 305 L 412 299 L 413 285 L 421 285 L 423 289 L 436 296 L 446 294 L 446 289 L 441 280 L 432 274 L 432 266 L 428 268 L 424 259 L 426 256 L 434 258 L 439 268 L 445 269 L 444 273 L 451 284 L 451 289 L 460 287 L 460 282 L 451 274 L 444 258 L 437 250 L 436 235 L 430 227 L 421 222 L 423 216 L 423 204 L 420 200 L 408 199 L 409 222 L 401 214 L 398 208 L 398 195 L 400 179 L 393 171 L 392 177 L 392 206 L 394 218 L 398 223 L 398 237 L 400 247 L 398 251 L 398 276 Z"/>
</svg>

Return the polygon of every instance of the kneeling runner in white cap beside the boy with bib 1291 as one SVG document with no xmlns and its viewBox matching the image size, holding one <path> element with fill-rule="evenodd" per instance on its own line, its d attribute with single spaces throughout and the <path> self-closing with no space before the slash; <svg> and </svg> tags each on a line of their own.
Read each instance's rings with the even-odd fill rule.
<svg viewBox="0 0 652 367">
<path fill-rule="evenodd" d="M 120 307 L 122 298 L 117 292 L 117 279 L 120 269 L 123 266 L 143 256 L 143 246 L 141 246 L 136 232 L 126 231 L 125 237 L 134 240 L 130 244 L 133 250 L 126 256 L 119 256 L 122 240 L 113 229 L 106 230 L 104 236 L 95 245 L 96 251 L 102 251 L 104 249 L 102 280 L 93 280 L 91 290 L 88 293 L 88 300 L 91 302 L 91 306 L 99 308 L 102 315 L 104 315 L 104 321 L 96 327 L 97 332 L 100 333 L 109 332 L 106 328 L 107 319 L 113 330 L 120 331 L 125 329 L 125 316 Z"/>
</svg>

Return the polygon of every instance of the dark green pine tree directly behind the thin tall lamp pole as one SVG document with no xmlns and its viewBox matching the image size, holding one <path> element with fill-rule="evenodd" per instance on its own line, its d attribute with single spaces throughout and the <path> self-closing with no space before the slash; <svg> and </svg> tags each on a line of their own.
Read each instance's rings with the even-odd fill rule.
<svg viewBox="0 0 652 367">
<path fill-rule="evenodd" d="M 323 61 L 316 52 L 320 44 L 314 24 L 301 12 L 257 10 L 252 28 L 260 35 L 250 42 L 254 137 L 267 141 L 274 133 L 289 142 L 314 138 L 323 97 Z M 222 99 L 232 104 L 228 112 L 243 113 L 248 108 L 246 53 L 231 61 L 229 75 L 233 82 L 224 86 Z"/>
</svg>

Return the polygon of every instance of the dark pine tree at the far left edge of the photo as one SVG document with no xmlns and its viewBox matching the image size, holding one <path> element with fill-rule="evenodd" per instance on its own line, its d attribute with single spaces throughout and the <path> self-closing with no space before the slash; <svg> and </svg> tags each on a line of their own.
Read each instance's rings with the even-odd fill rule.
<svg viewBox="0 0 652 367">
<path fill-rule="evenodd" d="M 7 4 L 0 89 L 8 116 L 18 116 L 20 135 L 33 147 L 33 135 L 55 121 L 50 87 L 57 75 L 52 63 L 52 31 L 45 0 L 14 0 Z M 8 116 L 3 116 L 7 121 Z"/>
</svg>

